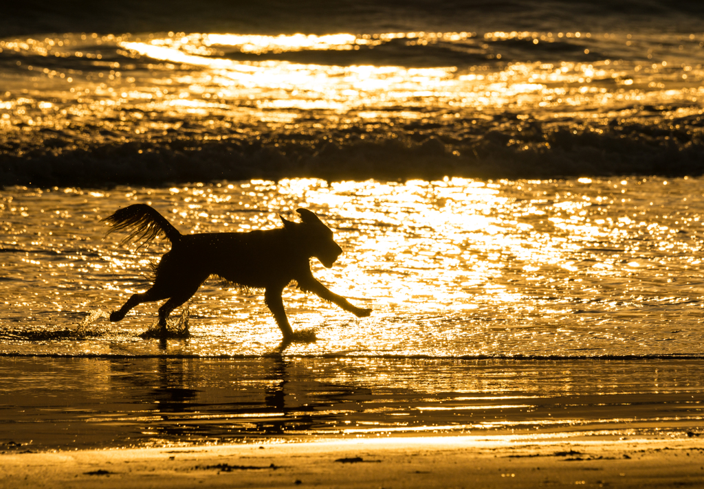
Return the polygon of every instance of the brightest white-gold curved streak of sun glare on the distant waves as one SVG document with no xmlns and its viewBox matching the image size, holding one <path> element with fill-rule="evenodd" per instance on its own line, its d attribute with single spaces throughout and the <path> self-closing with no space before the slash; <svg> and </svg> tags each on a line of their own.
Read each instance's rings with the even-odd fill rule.
<svg viewBox="0 0 704 489">
<path fill-rule="evenodd" d="M 422 34 L 422 35 L 421 35 Z M 242 87 L 249 89 L 286 89 L 296 91 L 302 99 L 308 99 L 308 106 L 298 108 L 323 108 L 324 105 L 310 106 L 310 99 L 327 101 L 330 108 L 351 110 L 365 103 L 407 103 L 413 106 L 415 97 L 437 97 L 455 109 L 496 108 L 515 106 L 522 108 L 546 108 L 548 106 L 598 106 L 612 104 L 619 100 L 646 102 L 650 96 L 662 97 L 661 92 L 644 90 L 641 81 L 636 83 L 639 90 L 632 93 L 619 93 L 612 87 L 592 81 L 633 86 L 634 79 L 627 72 L 632 66 L 620 68 L 619 61 L 603 60 L 592 63 L 508 63 L 503 70 L 489 72 L 482 66 L 467 68 L 458 72 L 454 67 L 412 69 L 384 65 L 313 65 L 289 63 L 287 61 L 235 61 L 218 57 L 220 53 L 211 46 L 237 46 L 246 53 L 266 53 L 268 51 L 289 52 L 302 49 L 342 49 L 343 47 L 366 44 L 380 44 L 390 39 L 471 39 L 471 33 L 398 33 L 375 34 L 366 39 L 351 34 L 313 36 L 294 34 L 291 36 L 242 36 L 236 34 L 190 34 L 184 37 L 150 39 L 149 42 L 125 42 L 118 44 L 132 53 L 132 56 L 149 56 L 169 63 L 184 63 L 205 67 L 212 73 L 203 73 L 210 83 L 223 88 Z M 529 33 L 495 32 L 490 39 L 522 38 Z M 533 33 L 534 39 L 539 34 Z M 562 36 L 560 36 L 562 37 Z M 579 37 L 579 32 L 568 33 L 567 37 Z M 488 38 L 488 39 L 489 39 Z M 456 40 L 455 39 L 455 40 Z M 643 66 L 636 72 L 653 75 L 665 65 Z M 688 70 L 691 71 L 691 68 Z M 691 75 L 690 75 L 691 76 Z M 625 77 L 625 78 L 623 78 Z M 651 80 L 648 78 L 648 80 Z M 686 79 L 683 79 L 686 80 Z M 198 80 L 194 80 L 198 84 Z M 208 83 L 208 84 L 210 84 Z M 650 83 L 650 81 L 648 81 Z M 576 88 L 573 88 L 576 87 Z M 203 87 L 205 89 L 205 87 Z M 636 87 L 631 87 L 636 88 Z M 691 89 L 674 89 L 667 96 L 674 99 L 686 98 L 699 93 L 698 85 Z M 291 99 L 296 99 L 291 94 Z M 308 96 L 306 97 L 306 94 Z M 289 97 L 275 96 L 270 107 L 285 108 L 296 106 Z M 227 94 L 225 94 L 227 99 Z M 346 104 L 336 105 L 340 101 Z M 427 101 L 426 101 L 427 103 Z M 293 105 L 291 105 L 293 104 Z"/>
</svg>

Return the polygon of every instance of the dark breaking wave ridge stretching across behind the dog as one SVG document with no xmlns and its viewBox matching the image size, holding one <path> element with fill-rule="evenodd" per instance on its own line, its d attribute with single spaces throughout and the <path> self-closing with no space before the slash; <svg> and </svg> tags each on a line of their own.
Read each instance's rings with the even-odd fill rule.
<svg viewBox="0 0 704 489">
<path fill-rule="evenodd" d="M 477 124 L 477 122 L 479 122 Z M 603 127 L 547 125 L 501 116 L 453 127 L 408 125 L 395 132 L 351 127 L 331 140 L 270 134 L 246 140 L 132 141 L 0 155 L 0 184 L 152 186 L 181 182 L 316 177 L 328 180 L 553 178 L 704 173 L 704 121 Z M 677 127 L 675 129 L 674 127 Z M 336 140 L 337 139 L 337 140 Z"/>
</svg>

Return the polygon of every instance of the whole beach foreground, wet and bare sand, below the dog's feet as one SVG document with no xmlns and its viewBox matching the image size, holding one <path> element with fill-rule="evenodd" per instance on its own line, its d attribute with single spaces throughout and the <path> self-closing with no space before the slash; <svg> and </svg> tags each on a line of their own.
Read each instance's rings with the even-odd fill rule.
<svg viewBox="0 0 704 489">
<path fill-rule="evenodd" d="M 0 367 L 0 388 L 15 386 L 3 488 L 704 483 L 700 360 L 5 357 Z"/>
</svg>

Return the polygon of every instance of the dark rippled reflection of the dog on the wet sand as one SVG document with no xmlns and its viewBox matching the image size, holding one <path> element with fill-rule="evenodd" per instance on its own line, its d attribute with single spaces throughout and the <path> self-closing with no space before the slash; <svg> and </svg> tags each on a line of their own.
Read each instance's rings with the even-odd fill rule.
<svg viewBox="0 0 704 489">
<path fill-rule="evenodd" d="M 334 405 L 348 404 L 352 395 L 367 391 L 360 392 L 353 382 L 338 386 L 307 379 L 306 369 L 280 355 L 234 363 L 178 359 L 146 363 L 153 362 L 158 369 L 147 375 L 146 381 L 118 377 L 113 386 L 132 395 L 144 392 L 144 398 L 136 400 L 144 407 L 126 413 L 130 419 L 141 411 L 142 419 L 149 421 L 149 426 L 141 428 L 141 436 L 133 437 L 132 443 L 137 445 L 270 441 L 336 434 L 337 418 L 348 409 L 335 409 Z M 134 373 L 141 364 L 144 362 L 130 362 L 127 368 Z M 121 374 L 122 369 L 115 373 Z"/>
</svg>

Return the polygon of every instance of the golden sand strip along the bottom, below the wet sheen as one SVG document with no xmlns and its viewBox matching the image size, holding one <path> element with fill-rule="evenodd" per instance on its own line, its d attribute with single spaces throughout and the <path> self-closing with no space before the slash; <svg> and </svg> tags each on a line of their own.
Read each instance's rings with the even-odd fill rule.
<svg viewBox="0 0 704 489">
<path fill-rule="evenodd" d="M 429 437 L 0 455 L 2 488 L 704 487 L 704 440 Z"/>
</svg>

